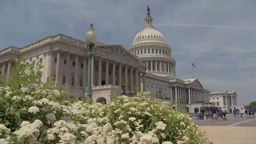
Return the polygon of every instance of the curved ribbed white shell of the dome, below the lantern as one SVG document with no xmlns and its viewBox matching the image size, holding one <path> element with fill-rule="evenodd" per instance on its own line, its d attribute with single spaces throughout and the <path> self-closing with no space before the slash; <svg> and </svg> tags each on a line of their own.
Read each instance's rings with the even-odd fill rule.
<svg viewBox="0 0 256 144">
<path fill-rule="evenodd" d="M 154 27 L 145 27 L 133 39 L 133 44 L 143 41 L 157 41 L 166 44 L 165 37 Z"/>
</svg>

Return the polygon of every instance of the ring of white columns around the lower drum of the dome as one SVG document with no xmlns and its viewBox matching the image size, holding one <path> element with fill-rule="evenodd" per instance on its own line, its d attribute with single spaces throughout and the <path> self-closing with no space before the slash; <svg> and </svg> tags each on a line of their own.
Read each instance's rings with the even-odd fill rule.
<svg viewBox="0 0 256 144">
<path fill-rule="evenodd" d="M 154 63 L 154 64 L 153 64 Z M 150 69 L 149 69 L 149 64 L 150 64 Z M 159 66 L 157 66 L 157 64 Z M 153 65 L 155 65 L 155 70 L 153 70 Z M 147 72 L 168 72 L 168 73 L 173 73 L 176 74 L 175 72 L 175 64 L 171 62 L 166 62 L 166 61 L 146 61 L 145 66 L 147 67 L 146 71 Z M 162 68 L 163 66 L 163 68 Z"/>
</svg>

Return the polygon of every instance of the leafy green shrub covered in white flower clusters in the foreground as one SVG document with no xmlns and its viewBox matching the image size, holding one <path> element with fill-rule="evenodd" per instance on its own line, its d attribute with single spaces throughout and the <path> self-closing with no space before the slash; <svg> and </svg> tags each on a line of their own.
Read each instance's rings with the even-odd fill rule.
<svg viewBox="0 0 256 144">
<path fill-rule="evenodd" d="M 211 144 L 170 103 L 142 93 L 109 104 L 74 102 L 50 79 L 40 84 L 40 68 L 17 64 L 1 79 L 0 144 Z"/>
</svg>

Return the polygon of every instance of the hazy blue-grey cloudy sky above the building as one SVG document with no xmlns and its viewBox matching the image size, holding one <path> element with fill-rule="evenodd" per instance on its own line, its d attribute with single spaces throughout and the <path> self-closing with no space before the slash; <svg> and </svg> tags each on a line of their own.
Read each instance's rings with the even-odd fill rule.
<svg viewBox="0 0 256 144">
<path fill-rule="evenodd" d="M 150 6 L 166 38 L 178 78 L 198 78 L 211 91 L 235 90 L 238 104 L 256 101 L 254 0 L 1 0 L 0 49 L 22 47 L 62 33 L 84 40 L 91 23 L 97 41 L 129 49 Z"/>
</svg>

